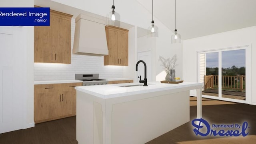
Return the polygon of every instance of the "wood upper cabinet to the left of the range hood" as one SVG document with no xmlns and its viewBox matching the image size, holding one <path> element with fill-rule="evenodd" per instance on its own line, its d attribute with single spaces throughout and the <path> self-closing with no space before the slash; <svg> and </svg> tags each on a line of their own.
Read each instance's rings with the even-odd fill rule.
<svg viewBox="0 0 256 144">
<path fill-rule="evenodd" d="M 50 10 L 50 26 L 34 27 L 34 62 L 71 63 L 71 18 Z"/>
</svg>

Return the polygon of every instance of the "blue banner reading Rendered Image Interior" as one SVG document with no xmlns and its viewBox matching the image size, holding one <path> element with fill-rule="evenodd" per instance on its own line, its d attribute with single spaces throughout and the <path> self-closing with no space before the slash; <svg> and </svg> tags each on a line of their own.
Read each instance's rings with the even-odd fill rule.
<svg viewBox="0 0 256 144">
<path fill-rule="evenodd" d="M 50 8 L 0 8 L 0 26 L 50 26 Z"/>
</svg>

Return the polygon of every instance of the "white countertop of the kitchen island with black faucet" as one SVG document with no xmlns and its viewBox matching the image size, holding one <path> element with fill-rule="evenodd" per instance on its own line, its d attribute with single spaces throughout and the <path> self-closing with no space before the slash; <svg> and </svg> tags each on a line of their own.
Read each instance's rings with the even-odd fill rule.
<svg viewBox="0 0 256 144">
<path fill-rule="evenodd" d="M 177 88 L 187 88 L 191 86 L 202 86 L 203 83 L 182 82 L 180 84 L 162 84 L 160 82 L 148 82 L 148 86 L 132 86 L 120 87 L 127 85 L 136 85 L 144 83 L 126 83 L 126 84 L 108 84 L 98 86 L 78 86 L 76 90 L 100 97 L 102 99 L 109 99 L 114 97 L 122 97 L 126 95 L 136 95 L 141 93 L 149 93 L 155 91 L 172 90 Z"/>
</svg>

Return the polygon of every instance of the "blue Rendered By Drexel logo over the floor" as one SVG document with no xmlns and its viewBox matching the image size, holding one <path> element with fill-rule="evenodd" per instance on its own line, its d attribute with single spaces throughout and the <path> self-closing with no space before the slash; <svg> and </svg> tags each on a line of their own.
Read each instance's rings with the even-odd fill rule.
<svg viewBox="0 0 256 144">
<path fill-rule="evenodd" d="M 249 132 L 246 132 L 248 128 L 248 123 L 244 122 L 241 124 L 221 124 L 216 125 L 212 124 L 212 128 L 210 124 L 204 119 L 194 119 L 192 121 L 192 125 L 195 127 L 193 131 L 196 136 L 247 136 Z"/>
</svg>

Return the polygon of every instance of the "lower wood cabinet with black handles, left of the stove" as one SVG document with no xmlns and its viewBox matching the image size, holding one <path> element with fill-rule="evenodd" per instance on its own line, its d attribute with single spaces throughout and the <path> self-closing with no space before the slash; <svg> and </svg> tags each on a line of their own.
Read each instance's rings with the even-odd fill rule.
<svg viewBox="0 0 256 144">
<path fill-rule="evenodd" d="M 75 86 L 82 83 L 34 85 L 35 123 L 76 115 Z"/>
</svg>

